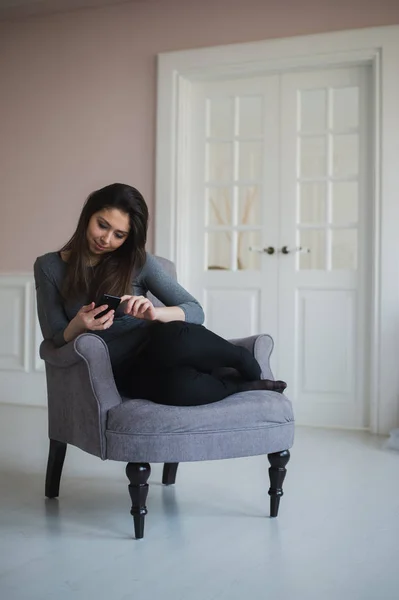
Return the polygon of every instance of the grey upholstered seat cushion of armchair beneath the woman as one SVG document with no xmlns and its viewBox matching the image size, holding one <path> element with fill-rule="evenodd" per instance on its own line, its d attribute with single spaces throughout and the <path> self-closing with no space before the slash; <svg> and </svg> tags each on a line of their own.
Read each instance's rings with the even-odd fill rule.
<svg viewBox="0 0 399 600">
<path fill-rule="evenodd" d="M 111 460 L 217 460 L 291 448 L 294 417 L 288 398 L 268 391 L 190 407 L 123 398 L 108 411 L 105 435 Z"/>
</svg>

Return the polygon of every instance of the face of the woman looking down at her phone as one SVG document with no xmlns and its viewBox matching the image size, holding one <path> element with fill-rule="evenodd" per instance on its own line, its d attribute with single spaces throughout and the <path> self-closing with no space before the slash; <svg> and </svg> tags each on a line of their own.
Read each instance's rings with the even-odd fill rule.
<svg viewBox="0 0 399 600">
<path fill-rule="evenodd" d="M 129 216 L 117 208 L 104 208 L 92 215 L 86 231 L 90 254 L 100 257 L 113 252 L 127 239 Z"/>
</svg>

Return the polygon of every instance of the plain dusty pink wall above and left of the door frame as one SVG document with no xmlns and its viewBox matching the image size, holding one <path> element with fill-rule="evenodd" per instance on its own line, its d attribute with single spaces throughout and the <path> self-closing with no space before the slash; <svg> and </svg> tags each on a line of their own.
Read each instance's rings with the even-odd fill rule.
<svg viewBox="0 0 399 600">
<path fill-rule="evenodd" d="M 395 23 L 398 0 L 147 0 L 0 24 L 0 272 L 58 248 L 107 183 L 153 215 L 157 53 Z"/>
</svg>

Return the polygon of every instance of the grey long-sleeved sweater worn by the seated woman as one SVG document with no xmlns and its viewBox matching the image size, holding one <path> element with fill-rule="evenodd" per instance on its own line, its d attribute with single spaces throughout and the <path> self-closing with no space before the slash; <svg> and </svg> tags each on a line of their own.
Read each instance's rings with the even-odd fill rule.
<svg viewBox="0 0 399 600">
<path fill-rule="evenodd" d="M 56 346 L 63 346 L 64 330 L 84 304 L 91 300 L 82 298 L 79 301 L 65 301 L 61 290 L 66 276 L 67 264 L 58 252 L 49 252 L 39 256 L 34 264 L 36 282 L 37 309 L 43 337 L 51 339 Z M 179 306 L 189 323 L 202 324 L 204 312 L 193 296 L 181 287 L 162 268 L 158 260 L 147 252 L 144 267 L 132 281 L 132 294 L 146 296 L 151 292 L 165 306 Z M 115 313 L 112 326 L 95 332 L 106 342 L 113 366 L 121 363 L 127 355 L 131 355 L 145 341 L 150 321 L 136 319 L 125 315 L 121 309 Z"/>
</svg>

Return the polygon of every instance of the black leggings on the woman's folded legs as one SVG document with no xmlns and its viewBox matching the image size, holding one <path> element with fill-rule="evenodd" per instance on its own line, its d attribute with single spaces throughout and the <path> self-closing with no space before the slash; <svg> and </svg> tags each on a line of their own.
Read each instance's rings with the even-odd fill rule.
<svg viewBox="0 0 399 600">
<path fill-rule="evenodd" d="M 225 367 L 235 369 L 237 375 L 215 372 Z M 202 325 L 172 321 L 148 328 L 144 349 L 115 371 L 115 380 L 130 398 L 195 406 L 237 393 L 243 381 L 258 380 L 260 375 L 259 363 L 246 348 Z"/>
</svg>

